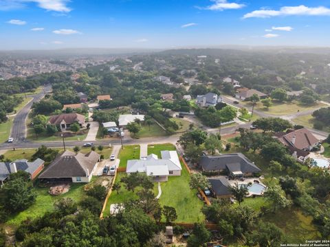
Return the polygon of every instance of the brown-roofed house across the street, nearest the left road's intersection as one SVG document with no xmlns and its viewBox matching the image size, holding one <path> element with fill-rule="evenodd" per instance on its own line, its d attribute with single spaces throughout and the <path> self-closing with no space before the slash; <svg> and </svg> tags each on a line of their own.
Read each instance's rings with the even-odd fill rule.
<svg viewBox="0 0 330 247">
<path fill-rule="evenodd" d="M 78 113 L 63 113 L 50 117 L 50 124 L 60 126 L 61 130 L 67 130 L 74 123 L 78 123 L 80 127 L 85 124 L 85 116 Z"/>
</svg>

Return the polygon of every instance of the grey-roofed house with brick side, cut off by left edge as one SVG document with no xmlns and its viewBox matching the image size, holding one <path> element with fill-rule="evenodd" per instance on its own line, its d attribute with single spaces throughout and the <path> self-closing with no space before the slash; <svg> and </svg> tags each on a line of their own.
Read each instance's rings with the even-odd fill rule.
<svg viewBox="0 0 330 247">
<path fill-rule="evenodd" d="M 0 162 L 0 181 L 3 183 L 3 181 L 6 180 L 10 174 L 18 171 L 28 172 L 31 176 L 31 180 L 33 180 L 41 172 L 44 164 L 45 161 L 41 158 L 37 158 L 33 162 L 26 159 L 16 160 L 13 162 Z"/>
</svg>

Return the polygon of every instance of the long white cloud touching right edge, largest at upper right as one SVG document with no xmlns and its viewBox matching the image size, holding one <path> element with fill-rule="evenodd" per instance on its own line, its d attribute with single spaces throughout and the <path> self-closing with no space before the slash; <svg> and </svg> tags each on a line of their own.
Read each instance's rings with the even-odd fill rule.
<svg viewBox="0 0 330 247">
<path fill-rule="evenodd" d="M 289 15 L 305 15 L 305 16 L 329 16 L 330 9 L 324 6 L 315 8 L 307 7 L 305 5 L 299 6 L 285 6 L 280 10 L 254 10 L 248 14 L 244 14 L 243 19 L 247 18 L 267 18 L 274 16 L 289 16 Z"/>
</svg>

